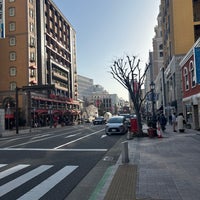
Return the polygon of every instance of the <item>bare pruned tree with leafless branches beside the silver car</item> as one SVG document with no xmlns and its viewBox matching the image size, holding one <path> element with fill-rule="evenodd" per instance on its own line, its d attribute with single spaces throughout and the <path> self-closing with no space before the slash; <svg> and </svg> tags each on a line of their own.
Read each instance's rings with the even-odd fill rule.
<svg viewBox="0 0 200 200">
<path fill-rule="evenodd" d="M 138 135 L 143 135 L 141 107 L 147 94 L 142 95 L 142 85 L 144 84 L 148 66 L 144 72 L 140 68 L 140 59 L 135 56 L 126 59 L 118 59 L 110 67 L 113 78 L 117 80 L 125 89 L 128 90 L 130 98 L 133 102 L 135 113 L 137 116 Z"/>
</svg>

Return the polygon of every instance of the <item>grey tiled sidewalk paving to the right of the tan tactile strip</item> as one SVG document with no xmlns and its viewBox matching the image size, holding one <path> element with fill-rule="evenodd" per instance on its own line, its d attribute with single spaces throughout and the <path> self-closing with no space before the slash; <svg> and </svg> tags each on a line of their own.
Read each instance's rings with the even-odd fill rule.
<svg viewBox="0 0 200 200">
<path fill-rule="evenodd" d="M 138 200 L 200 199 L 200 135 L 193 130 L 163 138 L 129 141 L 130 162 L 138 166 Z"/>
</svg>

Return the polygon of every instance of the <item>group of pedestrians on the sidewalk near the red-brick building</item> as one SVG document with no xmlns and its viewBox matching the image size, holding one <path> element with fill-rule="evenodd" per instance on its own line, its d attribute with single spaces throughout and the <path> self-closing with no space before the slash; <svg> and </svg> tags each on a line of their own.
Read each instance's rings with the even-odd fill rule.
<svg viewBox="0 0 200 200">
<path fill-rule="evenodd" d="M 161 130 L 164 131 L 166 129 L 165 126 L 167 124 L 167 118 L 163 113 L 158 115 L 157 122 Z M 179 132 L 184 132 L 185 123 L 186 121 L 184 119 L 183 113 L 179 113 L 178 116 L 176 116 L 176 113 L 173 113 L 171 116 L 169 116 L 169 124 L 172 125 L 174 132 L 177 132 L 177 130 Z"/>
</svg>

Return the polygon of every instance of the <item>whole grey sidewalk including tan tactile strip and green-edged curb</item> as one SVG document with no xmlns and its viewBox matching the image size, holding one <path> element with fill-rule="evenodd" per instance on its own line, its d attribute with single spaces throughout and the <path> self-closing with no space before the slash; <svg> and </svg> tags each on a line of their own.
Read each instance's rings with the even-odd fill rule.
<svg viewBox="0 0 200 200">
<path fill-rule="evenodd" d="M 129 163 L 122 164 L 121 155 L 93 199 L 199 200 L 200 132 L 186 129 L 185 133 L 174 133 L 172 127 L 167 126 L 162 136 L 128 140 Z M 131 166 L 132 170 L 127 173 L 136 172 L 136 176 L 124 173 L 120 170 L 122 166 L 126 171 L 127 166 Z M 118 190 L 122 190 L 123 197 L 116 196 Z"/>
</svg>

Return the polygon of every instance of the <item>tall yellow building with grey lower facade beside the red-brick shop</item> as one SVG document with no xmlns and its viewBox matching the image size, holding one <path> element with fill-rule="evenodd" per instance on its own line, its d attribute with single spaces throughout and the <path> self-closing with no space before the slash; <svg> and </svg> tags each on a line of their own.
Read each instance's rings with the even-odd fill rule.
<svg viewBox="0 0 200 200">
<path fill-rule="evenodd" d="M 200 0 L 161 0 L 166 107 L 182 112 L 183 56 L 200 37 Z"/>
</svg>

